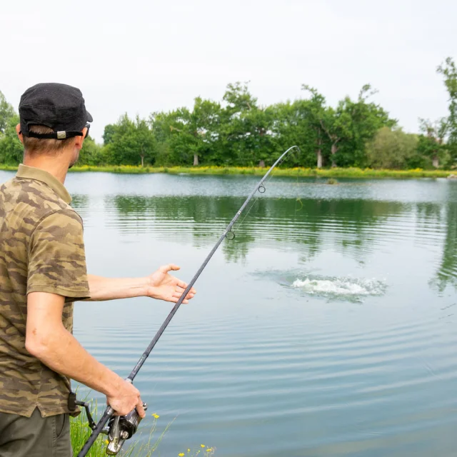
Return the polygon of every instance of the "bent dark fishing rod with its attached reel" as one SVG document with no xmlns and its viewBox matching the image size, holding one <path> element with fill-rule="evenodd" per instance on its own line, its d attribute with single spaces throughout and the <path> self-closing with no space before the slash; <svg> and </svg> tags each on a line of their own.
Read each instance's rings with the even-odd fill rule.
<svg viewBox="0 0 457 457">
<path fill-rule="evenodd" d="M 235 214 L 233 219 L 231 220 L 230 224 L 226 227 L 224 233 L 222 233 L 221 237 L 217 241 L 217 243 L 214 245 L 214 248 L 211 249 L 210 253 L 208 256 L 205 258 L 204 262 L 201 264 L 199 270 L 195 273 L 194 278 L 191 279 L 191 282 L 189 283 L 189 286 L 186 287 L 186 290 L 182 293 L 181 297 L 179 300 L 176 302 L 175 306 L 173 309 L 170 311 L 169 315 L 166 317 L 164 323 L 161 325 L 161 328 L 156 333 L 156 336 L 152 339 L 151 343 L 149 343 L 149 346 L 146 348 L 146 351 L 144 351 L 143 355 L 139 359 L 138 363 L 136 363 L 135 368 L 131 371 L 129 376 L 126 378 L 126 381 L 133 383 L 135 376 L 138 374 L 140 371 L 141 367 L 143 366 L 144 362 L 146 361 L 146 358 L 148 358 L 149 354 L 153 350 L 154 346 L 156 346 L 157 341 L 159 341 L 159 338 L 161 337 L 162 333 L 164 333 L 164 330 L 166 327 L 169 325 L 171 319 L 173 316 L 176 314 L 176 311 L 178 311 L 179 306 L 181 306 L 181 303 L 184 301 L 184 298 L 186 298 L 187 294 L 191 290 L 192 286 L 194 286 L 194 283 L 196 280 L 199 278 L 200 274 L 202 271 L 204 271 L 204 268 L 208 264 L 208 262 L 211 260 L 211 257 L 214 255 L 216 252 L 217 248 L 219 248 L 219 245 L 224 241 L 224 238 L 227 238 L 229 240 L 233 240 L 235 238 L 235 232 L 233 232 L 232 227 L 233 224 L 237 221 L 238 217 L 241 215 L 241 213 L 246 209 L 246 206 L 248 205 L 249 201 L 251 201 L 252 197 L 256 194 L 256 192 L 260 192 L 263 194 L 266 189 L 265 186 L 263 186 L 263 182 L 266 180 L 269 174 L 271 174 L 271 171 L 279 164 L 281 161 L 283 161 L 284 157 L 291 151 L 292 149 L 300 149 L 298 146 L 292 146 L 289 148 L 286 152 L 281 154 L 279 159 L 268 169 L 266 174 L 263 175 L 263 178 L 258 181 L 256 184 L 256 187 L 253 189 L 251 194 L 248 196 L 246 201 L 241 205 L 241 208 L 238 210 L 238 212 Z M 77 457 L 85 457 L 86 454 L 89 452 L 89 449 L 91 446 L 94 444 L 96 438 L 99 436 L 100 433 L 105 433 L 108 435 L 108 446 L 106 447 L 106 453 L 110 456 L 116 456 L 119 451 L 121 451 L 122 446 L 124 445 L 124 442 L 131 438 L 134 433 L 136 432 L 139 422 L 141 421 L 141 417 L 139 416 L 139 413 L 136 411 L 136 409 L 130 411 L 129 414 L 126 416 L 114 416 L 114 409 L 111 408 L 111 406 L 108 406 L 103 414 L 101 416 L 100 420 L 98 423 L 95 423 L 94 420 L 91 417 L 91 413 L 89 411 L 89 404 L 86 402 L 82 401 L 76 401 L 76 398 L 72 399 L 76 405 L 79 406 L 84 406 L 86 409 L 86 415 L 87 419 L 89 421 L 89 427 L 92 429 L 91 436 L 87 439 L 86 443 L 84 443 L 84 446 L 81 448 L 81 451 L 79 451 L 79 454 Z M 144 408 L 147 408 L 146 403 L 143 404 Z M 108 424 L 108 425 L 106 425 Z"/>
</svg>

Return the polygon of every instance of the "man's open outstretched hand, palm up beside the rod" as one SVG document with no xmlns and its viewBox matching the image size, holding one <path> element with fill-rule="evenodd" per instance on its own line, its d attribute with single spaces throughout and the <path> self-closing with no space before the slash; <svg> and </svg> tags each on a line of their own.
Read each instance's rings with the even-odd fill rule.
<svg viewBox="0 0 457 457">
<path fill-rule="evenodd" d="M 146 296 L 176 303 L 186 290 L 187 284 L 169 275 L 169 271 L 177 271 L 179 268 L 174 263 L 169 263 L 169 265 L 161 266 L 159 270 L 148 276 Z M 189 300 L 194 298 L 195 293 L 196 290 L 191 288 L 183 303 L 189 303 Z"/>
</svg>

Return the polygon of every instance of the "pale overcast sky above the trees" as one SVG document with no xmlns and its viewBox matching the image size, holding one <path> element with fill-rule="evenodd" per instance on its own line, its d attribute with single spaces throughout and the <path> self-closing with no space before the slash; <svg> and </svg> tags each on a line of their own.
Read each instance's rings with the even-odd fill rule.
<svg viewBox="0 0 457 457">
<path fill-rule="evenodd" d="M 406 131 L 446 116 L 436 66 L 457 59 L 455 0 L 4 1 L 0 91 L 17 109 L 38 82 L 79 87 L 91 134 L 129 115 L 221 100 L 251 81 L 260 104 L 315 86 L 336 104 L 363 84 Z"/>
</svg>

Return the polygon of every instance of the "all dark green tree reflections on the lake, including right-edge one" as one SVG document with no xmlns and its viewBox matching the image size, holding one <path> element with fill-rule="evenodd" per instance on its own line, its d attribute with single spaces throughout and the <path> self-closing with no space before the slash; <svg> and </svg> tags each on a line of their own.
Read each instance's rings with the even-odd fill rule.
<svg viewBox="0 0 457 457">
<path fill-rule="evenodd" d="M 408 237 L 409 230 L 415 244 L 435 250 L 442 243 L 441 260 L 430 281 L 442 292 L 447 286 L 457 288 L 457 186 L 448 187 L 446 200 L 443 205 L 261 197 L 248 206 L 247 216 L 247 211 L 241 214 L 233 228 L 236 238 L 222 243 L 221 251 L 230 262 L 243 261 L 255 248 L 293 252 L 308 262 L 331 250 L 363 263 L 380 246 Z M 104 204 L 122 234 L 154 233 L 159 241 L 208 248 L 243 201 L 230 196 L 119 195 L 107 196 Z M 89 196 L 82 194 L 72 202 L 83 217 L 90 204 Z"/>
</svg>

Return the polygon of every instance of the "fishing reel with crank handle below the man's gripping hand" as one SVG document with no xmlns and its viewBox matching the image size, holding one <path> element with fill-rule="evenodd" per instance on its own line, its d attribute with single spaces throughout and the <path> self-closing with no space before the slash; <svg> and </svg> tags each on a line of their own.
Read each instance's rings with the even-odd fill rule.
<svg viewBox="0 0 457 457">
<path fill-rule="evenodd" d="M 76 400 L 76 395 L 72 392 L 69 398 L 69 406 L 74 407 L 71 408 L 71 411 L 76 409 L 76 405 L 84 407 L 89 427 L 94 430 L 96 428 L 96 423 L 94 418 L 92 418 L 89 403 L 86 403 L 86 401 Z M 146 411 L 148 405 L 143 403 L 143 408 L 144 411 Z M 106 425 L 101 431 L 101 433 L 108 436 L 106 440 L 108 443 L 108 446 L 106 446 L 106 453 L 109 456 L 116 456 L 119 451 L 121 451 L 125 441 L 134 436 L 140 422 L 141 416 L 138 411 L 136 411 L 136 408 L 130 411 L 129 414 L 126 414 L 126 416 L 112 416 L 109 419 L 108 425 Z"/>
</svg>

